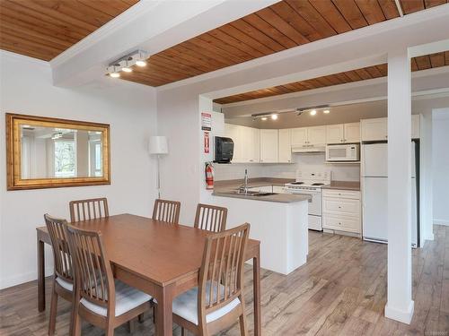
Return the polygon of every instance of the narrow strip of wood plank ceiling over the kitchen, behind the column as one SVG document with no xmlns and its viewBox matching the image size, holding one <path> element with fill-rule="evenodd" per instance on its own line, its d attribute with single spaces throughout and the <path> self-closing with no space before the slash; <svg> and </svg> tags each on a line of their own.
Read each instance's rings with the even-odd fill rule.
<svg viewBox="0 0 449 336">
<path fill-rule="evenodd" d="M 426 70 L 445 65 L 449 65 L 449 51 L 426 56 L 418 56 L 411 59 L 412 71 Z M 384 77 L 386 75 L 386 64 L 374 65 L 362 69 L 347 71 L 344 73 L 333 73 L 328 76 L 313 78 L 307 81 L 290 82 L 288 84 L 278 85 L 267 89 L 253 90 L 242 94 L 227 96 L 215 99 L 214 102 L 218 104 L 229 104 L 238 101 L 272 97 L 286 93 L 300 92 L 304 90 L 319 89 L 331 85 L 344 84 L 347 82 L 364 81 L 373 78 Z"/>
</svg>

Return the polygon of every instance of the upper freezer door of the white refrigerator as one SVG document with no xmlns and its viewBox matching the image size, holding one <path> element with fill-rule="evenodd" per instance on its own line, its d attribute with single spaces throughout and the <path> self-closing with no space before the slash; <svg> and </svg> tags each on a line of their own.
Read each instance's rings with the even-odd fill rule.
<svg viewBox="0 0 449 336">
<path fill-rule="evenodd" d="M 364 144 L 362 175 L 364 177 L 388 177 L 388 144 Z"/>
</svg>

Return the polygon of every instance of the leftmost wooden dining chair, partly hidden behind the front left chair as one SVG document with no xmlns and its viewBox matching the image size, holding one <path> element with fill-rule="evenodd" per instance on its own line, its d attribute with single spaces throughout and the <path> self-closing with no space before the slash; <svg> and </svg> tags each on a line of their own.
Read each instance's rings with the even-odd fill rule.
<svg viewBox="0 0 449 336">
<path fill-rule="evenodd" d="M 64 228 L 67 221 L 51 217 L 48 213 L 44 215 L 44 220 L 51 240 L 55 268 L 48 323 L 48 335 L 54 335 L 57 317 L 57 297 L 63 297 L 67 301 L 72 302 L 74 273 Z"/>
</svg>

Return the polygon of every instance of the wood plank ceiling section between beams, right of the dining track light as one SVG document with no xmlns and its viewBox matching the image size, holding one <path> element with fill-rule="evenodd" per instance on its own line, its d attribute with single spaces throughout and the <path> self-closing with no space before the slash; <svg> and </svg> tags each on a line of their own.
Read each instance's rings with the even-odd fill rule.
<svg viewBox="0 0 449 336">
<path fill-rule="evenodd" d="M 404 14 L 446 2 L 400 0 Z M 121 78 L 160 86 L 399 16 L 394 0 L 284 0 L 165 49 Z"/>
</svg>

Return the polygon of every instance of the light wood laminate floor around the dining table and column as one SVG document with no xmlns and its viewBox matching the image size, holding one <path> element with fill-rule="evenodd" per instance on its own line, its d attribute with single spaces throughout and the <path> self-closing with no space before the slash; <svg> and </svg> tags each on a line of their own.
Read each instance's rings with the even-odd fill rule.
<svg viewBox="0 0 449 336">
<path fill-rule="evenodd" d="M 307 263 L 288 276 L 262 271 L 264 335 L 449 336 L 449 227 L 435 226 L 435 240 L 413 251 L 415 314 L 410 325 L 383 317 L 387 246 L 353 237 L 310 232 Z M 251 266 L 246 272 L 246 311 L 252 334 Z M 0 335 L 46 335 L 47 305 L 38 313 L 36 281 L 0 291 Z M 68 331 L 70 306 L 60 299 L 57 334 Z M 174 326 L 174 334 L 180 329 Z M 101 335 L 84 324 L 83 335 Z M 135 335 L 154 334 L 151 313 Z M 128 335 L 121 326 L 116 335 Z M 222 335 L 239 335 L 235 324 Z"/>
</svg>

